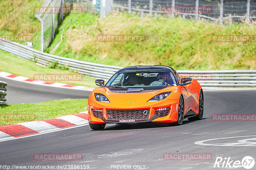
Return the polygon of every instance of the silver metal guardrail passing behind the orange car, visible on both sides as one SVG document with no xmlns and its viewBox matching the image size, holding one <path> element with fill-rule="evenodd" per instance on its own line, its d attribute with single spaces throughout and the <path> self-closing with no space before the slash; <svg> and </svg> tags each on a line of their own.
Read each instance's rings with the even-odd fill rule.
<svg viewBox="0 0 256 170">
<path fill-rule="evenodd" d="M 48 53 L 42 53 L 33 48 L 0 38 L 0 49 L 14 55 L 33 60 L 42 67 L 55 62 L 58 66 L 66 67 L 76 73 L 90 75 L 95 78 L 108 80 L 122 67 L 96 64 L 86 61 L 69 59 Z M 195 78 L 204 89 L 225 87 L 256 87 L 256 70 L 220 70 L 220 71 L 187 71 L 177 70 L 181 76 Z"/>
</svg>

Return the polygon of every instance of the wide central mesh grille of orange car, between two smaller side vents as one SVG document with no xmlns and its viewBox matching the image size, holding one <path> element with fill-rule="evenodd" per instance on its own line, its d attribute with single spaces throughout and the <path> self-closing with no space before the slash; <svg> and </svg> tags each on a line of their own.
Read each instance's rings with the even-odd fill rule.
<svg viewBox="0 0 256 170">
<path fill-rule="evenodd" d="M 150 110 L 107 110 L 109 121 L 130 120 L 136 122 L 148 120 Z"/>
</svg>

